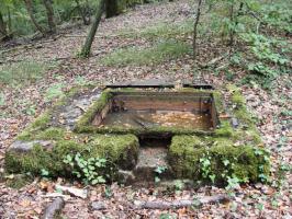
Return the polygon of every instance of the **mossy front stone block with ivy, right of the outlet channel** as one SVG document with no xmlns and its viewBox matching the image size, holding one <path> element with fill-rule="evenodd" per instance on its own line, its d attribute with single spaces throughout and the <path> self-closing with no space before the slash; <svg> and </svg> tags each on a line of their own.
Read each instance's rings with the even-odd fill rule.
<svg viewBox="0 0 292 219">
<path fill-rule="evenodd" d="M 269 154 L 251 146 L 234 146 L 227 138 L 175 136 L 169 163 L 177 177 L 226 183 L 262 181 L 269 175 Z"/>
</svg>

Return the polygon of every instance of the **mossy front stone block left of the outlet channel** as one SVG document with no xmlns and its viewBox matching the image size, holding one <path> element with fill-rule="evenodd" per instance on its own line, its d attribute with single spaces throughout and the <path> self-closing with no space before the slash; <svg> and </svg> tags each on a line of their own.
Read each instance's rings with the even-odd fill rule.
<svg viewBox="0 0 292 219">
<path fill-rule="evenodd" d="M 52 176 L 71 176 L 70 166 L 64 163 L 67 154 L 79 152 L 83 158 L 105 158 L 120 168 L 130 169 L 135 165 L 138 153 L 138 139 L 132 135 L 93 136 L 88 143 L 75 140 L 56 141 L 52 150 L 35 145 L 29 152 L 8 150 L 5 170 L 11 173 L 41 174 L 42 170 Z"/>
</svg>

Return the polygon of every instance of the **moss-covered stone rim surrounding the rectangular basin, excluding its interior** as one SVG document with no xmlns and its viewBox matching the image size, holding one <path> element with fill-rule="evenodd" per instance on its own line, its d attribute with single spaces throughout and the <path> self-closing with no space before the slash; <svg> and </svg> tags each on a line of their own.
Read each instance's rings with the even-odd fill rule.
<svg viewBox="0 0 292 219">
<path fill-rule="evenodd" d="M 82 92 L 85 90 L 90 93 L 92 88 L 81 89 Z M 173 136 L 168 160 L 175 176 L 213 183 L 225 183 L 229 177 L 240 182 L 263 182 L 269 175 L 269 153 L 265 150 L 240 90 L 227 85 L 225 102 L 218 91 L 184 89 L 183 92 L 212 92 L 218 114 L 228 114 L 238 124 L 235 127 L 226 117 L 211 132 L 169 127 L 147 130 L 147 136 Z M 18 136 L 14 147 L 12 145 L 5 153 L 8 172 L 37 175 L 45 170 L 52 176 L 71 177 L 74 170 L 64 162 L 68 154 L 81 154 L 83 159 L 105 158 L 115 166 L 114 171 L 135 168 L 139 151 L 138 136 L 145 134 L 145 129 L 124 130 L 117 127 L 99 130 L 91 126 L 96 113 L 110 100 L 109 91 L 98 95 L 99 100 L 83 112 L 75 129 L 57 123 L 61 108 L 70 105 L 76 95 L 81 95 L 78 93 L 78 89 L 69 92 L 67 97 Z"/>
</svg>

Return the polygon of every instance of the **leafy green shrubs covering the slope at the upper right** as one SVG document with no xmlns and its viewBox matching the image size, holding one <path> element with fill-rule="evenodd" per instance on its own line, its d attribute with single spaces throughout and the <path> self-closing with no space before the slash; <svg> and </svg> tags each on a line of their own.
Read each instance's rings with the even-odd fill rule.
<svg viewBox="0 0 292 219">
<path fill-rule="evenodd" d="M 209 13 L 203 18 L 200 34 L 205 41 L 217 42 L 221 38 L 234 48 L 229 64 L 246 72 L 242 83 L 271 89 L 281 73 L 291 71 L 291 45 L 283 37 L 291 33 L 292 8 L 289 1 L 271 4 L 257 0 L 209 0 L 206 5 Z M 225 74 L 227 80 L 236 77 L 231 70 Z"/>
</svg>

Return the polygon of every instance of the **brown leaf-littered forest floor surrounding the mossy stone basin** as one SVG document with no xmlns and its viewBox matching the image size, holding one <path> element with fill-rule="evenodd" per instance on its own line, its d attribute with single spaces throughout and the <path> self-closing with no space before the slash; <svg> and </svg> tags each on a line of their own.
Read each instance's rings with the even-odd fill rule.
<svg viewBox="0 0 292 219">
<path fill-rule="evenodd" d="M 52 201 L 49 194 L 55 192 L 56 183 L 81 186 L 61 178 L 57 181 L 36 178 L 16 189 L 9 187 L 7 183 L 16 176 L 3 175 L 5 149 L 25 126 L 49 107 L 52 101 L 54 102 L 54 96 L 76 84 L 92 81 L 102 85 L 109 82 L 149 78 L 171 77 L 190 80 L 193 78 L 194 64 L 188 54 L 160 64 L 138 66 L 109 67 L 99 62 L 102 56 L 116 48 L 143 47 L 151 44 L 147 38 L 125 37 L 121 34 L 121 30 L 141 30 L 159 22 L 168 24 L 181 22 L 189 19 L 191 11 L 188 2 L 183 0 L 147 4 L 120 16 L 104 20 L 89 59 L 76 58 L 87 33 L 85 26 L 70 28 L 66 33 L 34 44 L 2 49 L 4 53 L 1 53 L 0 62 L 5 65 L 33 60 L 42 61 L 49 67 L 35 82 L 20 81 L 19 84 L 7 84 L 0 81 L 0 174 L 2 175 L 0 177 L 0 218 L 37 218 Z M 200 49 L 203 51 L 200 56 L 201 62 L 224 53 L 213 47 L 210 49 L 207 45 Z M 242 72 L 237 73 L 240 76 Z M 226 83 L 225 74 L 217 76 L 204 70 L 201 77 L 215 88 Z M 236 82 L 236 78 L 234 81 Z M 134 200 L 195 199 L 204 195 L 226 194 L 227 192 L 215 186 L 172 193 L 159 188 L 122 187 L 116 184 L 88 186 L 86 189 L 89 191 L 89 197 L 86 199 L 65 196 L 66 205 L 61 216 L 64 218 L 292 218 L 291 172 L 277 176 L 279 168 L 292 162 L 292 132 L 291 124 L 289 125 L 291 116 L 283 116 L 283 112 L 291 112 L 292 108 L 291 76 L 282 74 L 273 83 L 270 91 L 257 85 L 252 88 L 243 85 L 242 91 L 247 100 L 248 108 L 258 117 L 258 129 L 266 147 L 271 151 L 272 181 L 281 181 L 280 188 L 276 188 L 272 183 L 243 185 L 235 191 L 235 198 L 224 204 L 170 210 L 133 210 L 127 204 Z M 91 206 L 93 201 L 102 204 L 102 209 L 94 209 Z"/>
</svg>

